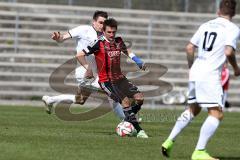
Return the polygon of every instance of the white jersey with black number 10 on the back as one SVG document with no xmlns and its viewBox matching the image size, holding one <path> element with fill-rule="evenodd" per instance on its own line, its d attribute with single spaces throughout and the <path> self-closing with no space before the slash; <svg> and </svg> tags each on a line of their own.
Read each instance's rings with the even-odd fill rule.
<svg viewBox="0 0 240 160">
<path fill-rule="evenodd" d="M 239 28 L 225 18 L 202 24 L 190 40 L 198 47 L 198 56 L 190 69 L 189 81 L 221 81 L 225 46 L 236 49 L 239 34 Z"/>
</svg>

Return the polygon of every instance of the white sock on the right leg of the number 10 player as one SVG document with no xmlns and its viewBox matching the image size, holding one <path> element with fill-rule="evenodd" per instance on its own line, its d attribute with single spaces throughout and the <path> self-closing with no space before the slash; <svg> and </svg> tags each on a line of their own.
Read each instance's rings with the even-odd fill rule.
<svg viewBox="0 0 240 160">
<path fill-rule="evenodd" d="M 204 150 L 208 140 L 212 137 L 219 126 L 219 119 L 208 116 L 205 122 L 203 123 L 200 131 L 200 136 L 196 146 L 196 150 Z"/>
</svg>

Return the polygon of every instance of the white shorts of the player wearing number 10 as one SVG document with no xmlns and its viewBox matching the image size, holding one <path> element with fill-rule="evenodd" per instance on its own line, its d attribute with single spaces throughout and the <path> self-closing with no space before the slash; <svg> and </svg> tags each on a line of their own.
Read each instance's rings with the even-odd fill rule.
<svg viewBox="0 0 240 160">
<path fill-rule="evenodd" d="M 220 82 L 189 82 L 188 103 L 200 107 L 223 107 L 223 89 Z"/>
</svg>

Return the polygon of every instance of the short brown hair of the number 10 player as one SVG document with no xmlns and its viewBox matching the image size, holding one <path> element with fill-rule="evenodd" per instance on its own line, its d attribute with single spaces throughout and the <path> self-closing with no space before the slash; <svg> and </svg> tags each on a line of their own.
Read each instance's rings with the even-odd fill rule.
<svg viewBox="0 0 240 160">
<path fill-rule="evenodd" d="M 229 15 L 230 17 L 236 14 L 236 0 L 222 0 L 220 2 L 220 12 L 223 15 Z"/>
</svg>

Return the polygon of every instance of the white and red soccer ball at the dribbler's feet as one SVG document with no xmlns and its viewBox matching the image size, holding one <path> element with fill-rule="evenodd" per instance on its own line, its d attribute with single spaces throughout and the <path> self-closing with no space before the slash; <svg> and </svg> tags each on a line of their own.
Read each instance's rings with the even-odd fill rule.
<svg viewBox="0 0 240 160">
<path fill-rule="evenodd" d="M 117 125 L 116 132 L 120 137 L 134 136 L 136 134 L 136 129 L 132 123 L 123 121 Z"/>
</svg>

